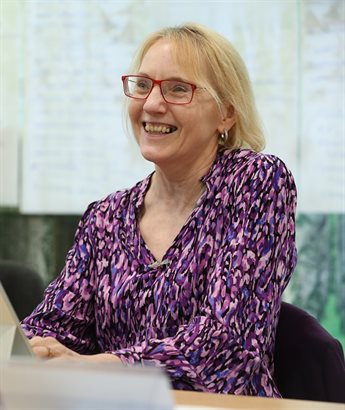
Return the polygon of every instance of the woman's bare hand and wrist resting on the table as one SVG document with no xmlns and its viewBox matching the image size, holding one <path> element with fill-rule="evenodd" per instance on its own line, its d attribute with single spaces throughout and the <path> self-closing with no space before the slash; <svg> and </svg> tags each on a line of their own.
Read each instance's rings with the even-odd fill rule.
<svg viewBox="0 0 345 410">
<path fill-rule="evenodd" d="M 41 359 L 50 360 L 82 360 L 93 363 L 117 362 L 121 360 L 111 353 L 99 353 L 95 355 L 82 355 L 62 343 L 57 341 L 54 337 L 35 336 L 30 340 L 34 354 Z"/>
</svg>

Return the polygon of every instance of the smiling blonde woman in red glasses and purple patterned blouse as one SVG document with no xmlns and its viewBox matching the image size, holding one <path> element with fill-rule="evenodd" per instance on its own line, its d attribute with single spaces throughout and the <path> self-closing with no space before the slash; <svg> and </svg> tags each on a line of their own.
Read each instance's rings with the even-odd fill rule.
<svg viewBox="0 0 345 410">
<path fill-rule="evenodd" d="M 89 206 L 23 328 L 40 357 L 154 364 L 177 389 L 279 397 L 296 190 L 258 152 L 246 68 L 226 39 L 185 25 L 151 35 L 132 70 L 128 113 L 155 171 Z"/>
</svg>

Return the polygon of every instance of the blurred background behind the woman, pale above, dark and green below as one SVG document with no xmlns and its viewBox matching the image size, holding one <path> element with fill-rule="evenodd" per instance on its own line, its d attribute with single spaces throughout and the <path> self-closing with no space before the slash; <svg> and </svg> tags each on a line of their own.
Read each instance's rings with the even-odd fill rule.
<svg viewBox="0 0 345 410">
<path fill-rule="evenodd" d="M 285 300 L 345 347 L 343 0 L 2 0 L 0 17 L 0 260 L 47 284 L 87 205 L 151 171 L 125 132 L 121 75 L 148 33 L 198 22 L 241 53 L 265 152 L 296 179 Z"/>
</svg>

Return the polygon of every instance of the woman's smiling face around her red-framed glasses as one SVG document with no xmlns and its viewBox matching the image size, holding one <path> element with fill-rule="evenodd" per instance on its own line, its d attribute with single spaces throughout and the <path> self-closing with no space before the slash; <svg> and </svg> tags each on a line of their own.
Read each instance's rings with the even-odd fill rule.
<svg viewBox="0 0 345 410">
<path fill-rule="evenodd" d="M 164 39 L 149 48 L 138 74 L 193 83 L 176 63 L 172 44 Z M 229 128 L 214 99 L 200 88 L 191 103 L 174 105 L 163 99 L 156 84 L 146 100 L 130 99 L 128 112 L 142 155 L 161 168 L 182 171 L 209 164 L 217 152 L 219 133 Z"/>
</svg>

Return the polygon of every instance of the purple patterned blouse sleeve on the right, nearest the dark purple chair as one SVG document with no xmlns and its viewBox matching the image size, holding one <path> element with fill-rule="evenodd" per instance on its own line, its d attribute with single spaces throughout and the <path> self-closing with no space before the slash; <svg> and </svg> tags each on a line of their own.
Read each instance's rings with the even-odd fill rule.
<svg viewBox="0 0 345 410">
<path fill-rule="evenodd" d="M 281 294 L 296 264 L 294 180 L 275 157 L 241 175 L 198 315 L 175 336 L 113 352 L 162 366 L 178 389 L 279 397 L 271 358 Z"/>
</svg>

